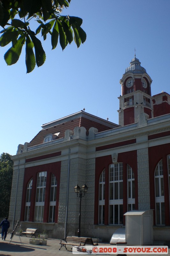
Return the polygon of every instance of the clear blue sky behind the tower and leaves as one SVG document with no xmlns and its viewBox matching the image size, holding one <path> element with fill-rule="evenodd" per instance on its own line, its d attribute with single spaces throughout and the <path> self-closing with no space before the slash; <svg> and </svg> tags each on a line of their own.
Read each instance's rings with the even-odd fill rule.
<svg viewBox="0 0 170 256">
<path fill-rule="evenodd" d="M 12 66 L 1 48 L 0 154 L 15 155 L 18 144 L 30 142 L 42 124 L 83 108 L 118 124 L 119 81 L 135 48 L 153 80 L 152 95 L 170 94 L 169 12 L 169 0 L 71 0 L 63 15 L 81 17 L 87 34 L 78 49 L 73 42 L 64 51 L 60 45 L 51 50 L 47 40 L 45 64 L 26 74 L 25 48 Z"/>
</svg>

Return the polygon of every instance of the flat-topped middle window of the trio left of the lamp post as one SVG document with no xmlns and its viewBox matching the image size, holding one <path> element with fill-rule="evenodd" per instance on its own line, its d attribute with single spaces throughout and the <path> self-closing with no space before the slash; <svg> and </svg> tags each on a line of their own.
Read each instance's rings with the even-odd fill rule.
<svg viewBox="0 0 170 256">
<path fill-rule="evenodd" d="M 46 177 L 47 172 L 38 173 L 34 214 L 34 221 L 37 222 L 43 222 Z"/>
</svg>

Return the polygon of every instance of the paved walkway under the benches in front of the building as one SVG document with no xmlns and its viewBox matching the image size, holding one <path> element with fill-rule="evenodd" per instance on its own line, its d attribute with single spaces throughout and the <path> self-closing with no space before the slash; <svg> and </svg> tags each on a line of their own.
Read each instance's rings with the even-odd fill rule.
<svg viewBox="0 0 170 256">
<path fill-rule="evenodd" d="M 7 234 L 6 240 L 0 240 L 0 256 L 18 256 L 20 253 L 24 256 L 72 256 L 76 255 L 72 253 L 71 246 L 68 246 L 67 251 L 64 247 L 59 251 L 60 240 L 59 239 L 48 239 L 47 245 L 35 245 L 29 244 L 30 237 L 22 236 L 21 242 L 19 236 L 13 236 Z M 109 245 L 101 243 L 99 245 Z M 82 255 L 82 254 L 81 254 Z M 90 255 L 90 254 L 85 254 Z M 94 254 L 93 254 L 94 255 Z M 99 255 L 99 254 L 98 254 Z M 108 254 L 104 254 L 108 255 Z M 111 255 L 111 254 L 109 254 Z M 133 254 L 127 254 L 128 256 L 133 256 Z M 137 255 L 137 254 L 136 254 Z M 151 254 L 150 254 L 151 255 Z M 152 254 L 153 255 L 153 254 Z M 154 254 L 156 255 L 156 254 Z M 159 254 L 161 256 L 162 254 Z M 164 256 L 167 254 L 164 254 Z M 140 254 L 140 256 L 148 256 L 148 254 Z M 168 256 L 170 256 L 170 249 L 168 250 Z"/>
</svg>

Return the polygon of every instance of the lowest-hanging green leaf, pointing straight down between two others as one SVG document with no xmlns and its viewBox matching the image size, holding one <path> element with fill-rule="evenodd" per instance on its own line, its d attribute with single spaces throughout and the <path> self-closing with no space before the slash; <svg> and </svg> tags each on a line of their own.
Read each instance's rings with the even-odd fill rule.
<svg viewBox="0 0 170 256">
<path fill-rule="evenodd" d="M 35 68 L 35 55 L 33 52 L 33 42 L 30 40 L 30 37 L 26 36 L 26 73 L 30 73 Z"/>
</svg>

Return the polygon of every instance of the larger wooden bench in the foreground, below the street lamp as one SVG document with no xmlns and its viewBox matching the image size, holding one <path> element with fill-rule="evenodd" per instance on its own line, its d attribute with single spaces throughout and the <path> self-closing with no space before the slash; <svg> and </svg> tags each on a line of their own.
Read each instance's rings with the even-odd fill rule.
<svg viewBox="0 0 170 256">
<path fill-rule="evenodd" d="M 97 241 L 93 242 L 92 238 L 90 237 L 77 237 L 77 236 L 67 236 L 66 239 L 60 240 L 60 244 L 61 244 L 60 249 L 64 246 L 66 250 L 67 250 L 66 245 L 72 245 L 72 247 L 80 246 L 80 245 L 85 246 L 86 244 L 93 245 L 93 246 L 98 245 Z"/>
</svg>

